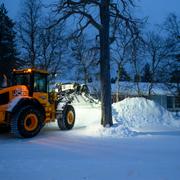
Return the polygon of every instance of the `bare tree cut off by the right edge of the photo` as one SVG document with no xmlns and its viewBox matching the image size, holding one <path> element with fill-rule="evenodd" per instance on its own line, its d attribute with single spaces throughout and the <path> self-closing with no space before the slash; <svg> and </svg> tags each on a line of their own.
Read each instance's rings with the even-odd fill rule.
<svg viewBox="0 0 180 180">
<path fill-rule="evenodd" d="M 165 19 L 163 25 L 161 25 L 161 29 L 164 30 L 163 32 L 166 34 L 165 43 L 167 51 L 163 74 L 166 74 L 167 77 L 167 72 L 169 72 L 169 81 L 171 82 L 170 84 L 166 81 L 165 84 L 170 89 L 176 88 L 177 93 L 180 94 L 180 18 L 176 14 L 170 13 Z"/>
</svg>

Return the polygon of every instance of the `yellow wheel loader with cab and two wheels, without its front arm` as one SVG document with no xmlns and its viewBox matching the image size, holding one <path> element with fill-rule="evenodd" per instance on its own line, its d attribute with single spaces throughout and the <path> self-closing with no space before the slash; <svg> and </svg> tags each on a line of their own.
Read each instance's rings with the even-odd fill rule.
<svg viewBox="0 0 180 180">
<path fill-rule="evenodd" d="M 31 138 L 57 119 L 62 130 L 72 129 L 75 111 L 69 101 L 59 102 L 48 93 L 48 73 L 44 70 L 13 70 L 13 85 L 0 88 L 0 126 L 15 136 Z M 56 110 L 58 104 L 60 108 Z M 1 131 L 1 130 L 0 130 Z"/>
</svg>

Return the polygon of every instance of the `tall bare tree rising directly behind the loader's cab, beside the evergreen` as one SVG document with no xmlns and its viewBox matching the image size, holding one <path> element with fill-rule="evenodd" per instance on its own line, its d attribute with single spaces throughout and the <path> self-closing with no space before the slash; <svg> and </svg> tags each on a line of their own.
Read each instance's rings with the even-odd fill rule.
<svg viewBox="0 0 180 180">
<path fill-rule="evenodd" d="M 40 0 L 24 0 L 17 23 L 18 39 L 26 65 L 34 67 L 39 55 L 39 29 L 42 4 Z"/>
</svg>

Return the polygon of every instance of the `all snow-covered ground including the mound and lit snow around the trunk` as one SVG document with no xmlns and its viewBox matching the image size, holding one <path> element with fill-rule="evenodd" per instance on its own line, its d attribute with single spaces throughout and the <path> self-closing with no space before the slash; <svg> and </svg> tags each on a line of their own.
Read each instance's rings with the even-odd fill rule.
<svg viewBox="0 0 180 180">
<path fill-rule="evenodd" d="M 75 103 L 71 131 L 47 125 L 32 139 L 0 134 L 0 180 L 180 179 L 180 120 L 152 101 L 113 104 L 102 128 L 100 106 Z"/>
</svg>

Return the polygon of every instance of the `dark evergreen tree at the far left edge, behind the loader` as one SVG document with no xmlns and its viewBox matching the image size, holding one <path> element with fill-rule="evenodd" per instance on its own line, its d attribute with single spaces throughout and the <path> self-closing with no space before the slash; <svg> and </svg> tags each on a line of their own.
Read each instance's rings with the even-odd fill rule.
<svg viewBox="0 0 180 180">
<path fill-rule="evenodd" d="M 8 79 L 16 65 L 15 31 L 14 23 L 8 17 L 4 4 L 0 5 L 0 74 Z"/>
</svg>

